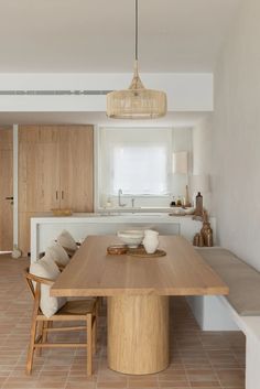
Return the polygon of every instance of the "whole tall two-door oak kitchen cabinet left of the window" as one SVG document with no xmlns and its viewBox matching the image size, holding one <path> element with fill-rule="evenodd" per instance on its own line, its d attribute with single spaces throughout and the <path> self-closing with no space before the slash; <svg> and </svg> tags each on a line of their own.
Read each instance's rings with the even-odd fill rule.
<svg viewBox="0 0 260 389">
<path fill-rule="evenodd" d="M 30 251 L 30 218 L 53 208 L 93 212 L 93 126 L 19 128 L 19 247 Z"/>
</svg>

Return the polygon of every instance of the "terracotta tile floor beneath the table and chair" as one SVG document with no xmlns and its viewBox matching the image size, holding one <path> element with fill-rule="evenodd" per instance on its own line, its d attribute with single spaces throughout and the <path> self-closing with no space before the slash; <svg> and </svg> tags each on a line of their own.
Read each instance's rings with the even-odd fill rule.
<svg viewBox="0 0 260 389">
<path fill-rule="evenodd" d="M 93 377 L 86 377 L 85 352 L 74 349 L 43 352 L 42 357 L 34 359 L 32 376 L 26 377 L 24 366 L 32 307 L 22 277 L 26 263 L 26 259 L 0 256 L 0 388 L 245 388 L 243 335 L 239 332 L 203 333 L 183 298 L 171 301 L 171 364 L 166 370 L 149 376 L 126 376 L 107 368 L 104 306 Z M 69 341 L 78 341 L 80 336 L 73 334 Z"/>
</svg>

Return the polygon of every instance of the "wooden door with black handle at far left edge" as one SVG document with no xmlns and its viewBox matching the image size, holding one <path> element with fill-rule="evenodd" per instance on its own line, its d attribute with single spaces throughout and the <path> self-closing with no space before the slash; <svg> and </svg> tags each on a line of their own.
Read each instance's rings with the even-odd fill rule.
<svg viewBox="0 0 260 389">
<path fill-rule="evenodd" d="M 13 248 L 13 137 L 12 128 L 0 128 L 0 251 Z"/>
</svg>

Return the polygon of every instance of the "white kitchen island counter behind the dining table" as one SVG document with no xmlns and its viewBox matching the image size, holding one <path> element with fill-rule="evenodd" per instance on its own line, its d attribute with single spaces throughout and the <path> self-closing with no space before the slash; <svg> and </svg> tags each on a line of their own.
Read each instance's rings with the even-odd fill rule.
<svg viewBox="0 0 260 389">
<path fill-rule="evenodd" d="M 215 218 L 209 219 L 216 230 Z M 53 216 L 51 213 L 31 218 L 31 261 L 52 245 L 63 229 L 67 229 L 77 241 L 88 235 L 111 235 L 122 229 L 155 228 L 161 235 L 182 235 L 192 241 L 202 228 L 202 221 L 192 216 L 169 216 L 166 213 L 121 214 L 73 214 Z"/>
</svg>

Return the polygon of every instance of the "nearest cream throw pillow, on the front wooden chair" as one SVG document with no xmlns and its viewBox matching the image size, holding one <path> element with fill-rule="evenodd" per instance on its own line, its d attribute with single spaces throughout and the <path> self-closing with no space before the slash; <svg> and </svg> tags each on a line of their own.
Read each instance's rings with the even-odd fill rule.
<svg viewBox="0 0 260 389">
<path fill-rule="evenodd" d="M 36 262 L 31 263 L 30 272 L 34 275 L 55 281 L 61 274 L 58 267 L 50 256 L 44 256 Z M 54 315 L 65 303 L 65 298 L 52 298 L 50 295 L 50 285 L 41 284 L 40 307 L 46 317 Z"/>
</svg>

